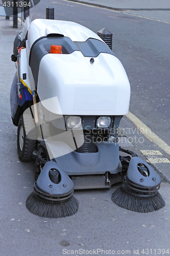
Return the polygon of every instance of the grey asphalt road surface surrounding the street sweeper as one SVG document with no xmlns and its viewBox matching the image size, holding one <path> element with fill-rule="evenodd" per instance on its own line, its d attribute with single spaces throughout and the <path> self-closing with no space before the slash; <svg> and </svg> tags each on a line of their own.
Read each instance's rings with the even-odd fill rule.
<svg viewBox="0 0 170 256">
<path fill-rule="evenodd" d="M 113 51 L 123 62 L 131 83 L 130 111 L 169 144 L 170 25 L 66 1 L 41 0 L 30 10 L 32 18 L 45 18 L 45 7 L 49 4 L 55 8 L 56 19 L 72 20 L 94 32 L 104 27 L 113 32 Z M 80 207 L 71 217 L 46 219 L 27 210 L 25 202 L 33 190 L 34 162 L 18 160 L 17 130 L 9 106 L 15 74 L 15 65 L 10 61 L 15 34 L 17 31 L 7 24 L 0 35 L 1 255 L 168 255 L 170 189 L 167 180 L 163 180 L 160 189 L 166 206 L 149 214 L 113 204 L 111 194 L 116 186 L 109 190 L 75 191 Z"/>
</svg>

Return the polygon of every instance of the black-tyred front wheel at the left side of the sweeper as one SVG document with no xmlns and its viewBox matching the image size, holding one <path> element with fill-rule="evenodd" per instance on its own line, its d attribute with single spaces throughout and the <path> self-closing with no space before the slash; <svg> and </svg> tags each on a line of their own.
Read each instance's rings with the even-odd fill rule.
<svg viewBox="0 0 170 256">
<path fill-rule="evenodd" d="M 29 162 L 32 159 L 32 153 L 36 149 L 36 140 L 27 138 L 25 125 L 29 125 L 29 120 L 20 116 L 17 131 L 17 150 L 18 157 L 22 162 Z"/>
</svg>

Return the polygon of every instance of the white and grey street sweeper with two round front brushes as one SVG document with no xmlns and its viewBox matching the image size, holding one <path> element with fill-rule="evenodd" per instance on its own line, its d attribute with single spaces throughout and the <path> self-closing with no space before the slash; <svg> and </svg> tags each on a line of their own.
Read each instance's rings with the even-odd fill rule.
<svg viewBox="0 0 170 256">
<path fill-rule="evenodd" d="M 18 157 L 35 159 L 29 211 L 48 218 L 70 216 L 79 207 L 74 189 L 111 188 L 117 182 L 123 185 L 112 201 L 120 207 L 138 212 L 162 208 L 159 175 L 118 145 L 130 84 L 107 44 L 74 22 L 30 22 L 28 17 L 13 52 L 17 70 L 10 101 Z"/>
</svg>

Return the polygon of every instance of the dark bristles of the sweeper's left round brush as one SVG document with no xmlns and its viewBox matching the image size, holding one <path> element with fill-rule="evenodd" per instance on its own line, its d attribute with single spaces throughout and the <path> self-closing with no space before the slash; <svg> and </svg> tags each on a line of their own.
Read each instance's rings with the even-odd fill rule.
<svg viewBox="0 0 170 256">
<path fill-rule="evenodd" d="M 76 214 L 79 209 L 79 202 L 74 196 L 61 203 L 52 202 L 39 197 L 34 191 L 28 196 L 26 207 L 32 214 L 40 217 L 63 218 Z"/>
</svg>

